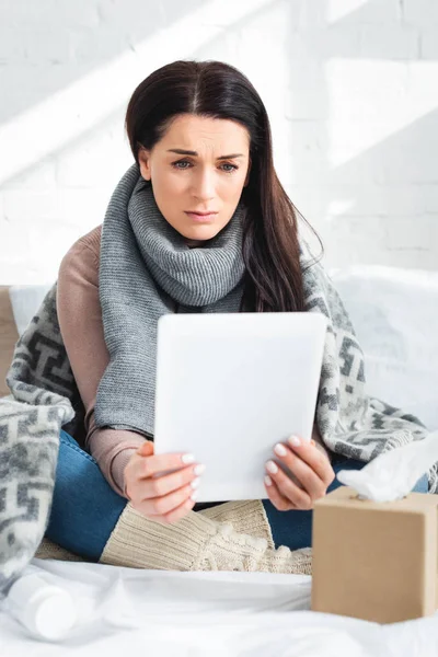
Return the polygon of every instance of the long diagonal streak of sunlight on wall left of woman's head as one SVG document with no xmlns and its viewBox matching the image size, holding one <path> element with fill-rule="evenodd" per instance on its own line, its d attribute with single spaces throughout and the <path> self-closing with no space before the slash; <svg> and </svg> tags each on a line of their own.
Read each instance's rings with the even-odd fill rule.
<svg viewBox="0 0 438 657">
<path fill-rule="evenodd" d="M 0 184 L 62 148 L 126 103 L 145 76 L 221 34 L 272 0 L 207 2 L 184 19 L 0 127 Z M 203 30 L 199 25 L 203 24 Z M 163 47 L 165 44 L 165 47 Z M 61 117 L 61 118 L 60 118 Z"/>
</svg>

